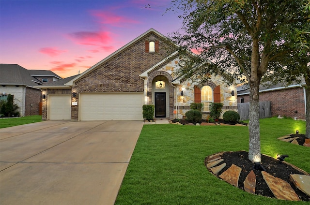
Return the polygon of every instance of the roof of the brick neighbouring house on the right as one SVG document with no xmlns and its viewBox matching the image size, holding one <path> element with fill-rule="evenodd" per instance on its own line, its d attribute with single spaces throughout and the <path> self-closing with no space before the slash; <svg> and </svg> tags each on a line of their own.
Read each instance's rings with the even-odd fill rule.
<svg viewBox="0 0 310 205">
<path fill-rule="evenodd" d="M 268 82 L 263 83 L 260 85 L 259 92 L 267 92 L 272 90 L 280 90 L 280 89 L 287 89 L 287 88 L 296 88 L 305 85 L 305 80 L 302 79 L 301 84 L 292 83 L 291 85 L 286 85 L 285 83 L 278 83 L 278 84 L 270 84 Z M 244 84 L 242 86 L 237 87 L 237 95 L 247 95 L 249 94 L 249 86 L 248 84 Z"/>
</svg>

